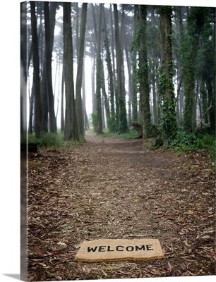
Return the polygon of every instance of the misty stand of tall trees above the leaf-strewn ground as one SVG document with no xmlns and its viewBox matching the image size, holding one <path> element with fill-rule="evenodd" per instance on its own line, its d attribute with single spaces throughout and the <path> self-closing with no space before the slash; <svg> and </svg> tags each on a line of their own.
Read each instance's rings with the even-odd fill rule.
<svg viewBox="0 0 216 282">
<path fill-rule="evenodd" d="M 28 132 L 215 133 L 215 8 L 30 1 Z M 88 75 L 88 77 L 87 77 Z M 59 130 L 57 130 L 59 129 Z"/>
</svg>

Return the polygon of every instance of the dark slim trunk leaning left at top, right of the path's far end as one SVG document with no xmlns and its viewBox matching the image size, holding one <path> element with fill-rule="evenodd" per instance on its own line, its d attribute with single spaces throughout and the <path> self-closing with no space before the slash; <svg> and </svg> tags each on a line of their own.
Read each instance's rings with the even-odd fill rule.
<svg viewBox="0 0 216 282">
<path fill-rule="evenodd" d="M 114 6 L 114 25 L 115 25 L 115 42 L 116 42 L 116 73 L 117 73 L 117 99 L 119 102 L 119 133 L 126 133 L 128 131 L 128 123 L 126 116 L 125 92 L 122 77 L 122 50 L 119 35 L 119 16 L 117 5 Z"/>
</svg>

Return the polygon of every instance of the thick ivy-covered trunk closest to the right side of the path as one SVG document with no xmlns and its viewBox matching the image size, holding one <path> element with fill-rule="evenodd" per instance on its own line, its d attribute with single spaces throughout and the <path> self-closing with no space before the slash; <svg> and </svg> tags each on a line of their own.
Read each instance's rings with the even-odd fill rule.
<svg viewBox="0 0 216 282">
<path fill-rule="evenodd" d="M 163 143 L 166 146 L 167 142 L 172 140 L 177 132 L 172 59 L 172 7 L 161 6 L 159 11 L 161 47 L 159 89 L 162 99 Z"/>
</svg>

